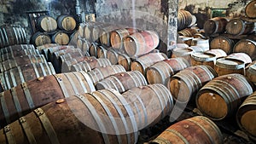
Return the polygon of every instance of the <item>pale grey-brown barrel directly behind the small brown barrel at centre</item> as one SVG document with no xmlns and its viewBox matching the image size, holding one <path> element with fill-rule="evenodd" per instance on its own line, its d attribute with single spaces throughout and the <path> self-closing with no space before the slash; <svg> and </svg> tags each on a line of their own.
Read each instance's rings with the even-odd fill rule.
<svg viewBox="0 0 256 144">
<path fill-rule="evenodd" d="M 95 69 L 87 73 L 90 76 L 93 84 L 96 84 L 102 79 L 108 78 L 108 76 L 117 74 L 119 72 L 125 72 L 125 68 L 121 65 L 96 67 Z"/>
</svg>

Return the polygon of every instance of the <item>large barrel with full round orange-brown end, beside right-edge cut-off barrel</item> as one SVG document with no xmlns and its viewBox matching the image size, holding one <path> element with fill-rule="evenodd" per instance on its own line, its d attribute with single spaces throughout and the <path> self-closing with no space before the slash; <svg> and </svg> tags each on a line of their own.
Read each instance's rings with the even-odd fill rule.
<svg viewBox="0 0 256 144">
<path fill-rule="evenodd" d="M 204 115 L 221 120 L 234 115 L 243 98 L 251 94 L 253 88 L 247 79 L 233 73 L 212 79 L 199 90 L 195 101 Z"/>
</svg>

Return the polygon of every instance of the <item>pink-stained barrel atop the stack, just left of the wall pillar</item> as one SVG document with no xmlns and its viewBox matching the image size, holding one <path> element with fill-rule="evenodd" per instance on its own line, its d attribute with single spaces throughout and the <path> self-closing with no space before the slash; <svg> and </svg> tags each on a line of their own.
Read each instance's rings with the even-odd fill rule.
<svg viewBox="0 0 256 144">
<path fill-rule="evenodd" d="M 125 52 L 129 56 L 144 55 L 155 49 L 160 43 L 160 37 L 156 32 L 136 32 L 125 37 Z"/>
</svg>

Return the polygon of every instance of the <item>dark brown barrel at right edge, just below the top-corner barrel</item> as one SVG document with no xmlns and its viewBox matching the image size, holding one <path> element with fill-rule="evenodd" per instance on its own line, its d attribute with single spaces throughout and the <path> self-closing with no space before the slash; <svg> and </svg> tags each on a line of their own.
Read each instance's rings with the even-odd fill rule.
<svg viewBox="0 0 256 144">
<path fill-rule="evenodd" d="M 226 25 L 226 32 L 232 35 L 249 34 L 254 30 L 254 23 L 241 20 L 239 18 L 232 19 Z"/>
</svg>

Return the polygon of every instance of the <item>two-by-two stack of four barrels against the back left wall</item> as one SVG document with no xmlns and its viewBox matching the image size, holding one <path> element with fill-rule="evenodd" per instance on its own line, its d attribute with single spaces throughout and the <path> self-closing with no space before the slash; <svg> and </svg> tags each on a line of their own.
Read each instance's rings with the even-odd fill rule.
<svg viewBox="0 0 256 144">
<path fill-rule="evenodd" d="M 31 43 L 41 46 L 46 43 L 66 45 L 76 32 L 77 21 L 73 16 L 61 14 L 56 19 L 42 15 L 37 20 L 37 31 L 32 34 Z"/>
</svg>

